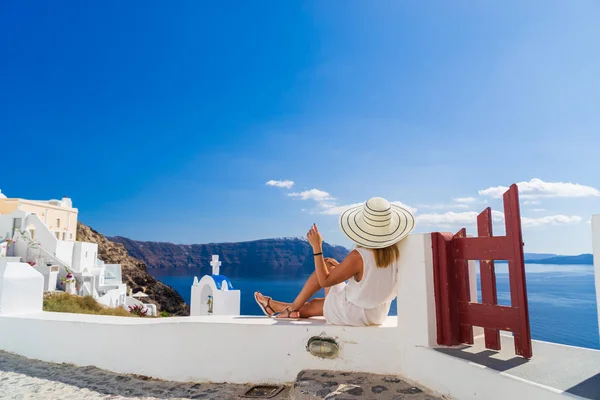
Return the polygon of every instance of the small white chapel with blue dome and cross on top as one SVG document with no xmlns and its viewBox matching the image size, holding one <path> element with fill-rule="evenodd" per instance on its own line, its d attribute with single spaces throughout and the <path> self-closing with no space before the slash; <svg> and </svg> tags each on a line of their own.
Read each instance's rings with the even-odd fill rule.
<svg viewBox="0 0 600 400">
<path fill-rule="evenodd" d="M 190 316 L 240 315 L 241 293 L 233 290 L 229 279 L 221 275 L 218 255 L 210 262 L 212 275 L 204 275 L 200 281 L 194 277 L 190 300 Z"/>
</svg>

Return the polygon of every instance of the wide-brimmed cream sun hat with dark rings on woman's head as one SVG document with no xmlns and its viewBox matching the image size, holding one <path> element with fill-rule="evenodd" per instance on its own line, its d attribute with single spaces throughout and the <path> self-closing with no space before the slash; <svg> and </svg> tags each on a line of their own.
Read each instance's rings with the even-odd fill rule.
<svg viewBox="0 0 600 400">
<path fill-rule="evenodd" d="M 348 239 L 367 249 L 381 249 L 404 239 L 415 227 L 415 217 L 407 209 L 372 197 L 351 207 L 340 216 L 340 227 Z"/>
</svg>

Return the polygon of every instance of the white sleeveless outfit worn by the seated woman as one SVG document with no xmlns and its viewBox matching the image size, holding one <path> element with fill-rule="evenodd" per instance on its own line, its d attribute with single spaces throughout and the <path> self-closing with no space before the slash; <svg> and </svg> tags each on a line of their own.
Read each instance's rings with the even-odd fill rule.
<svg viewBox="0 0 600 400">
<path fill-rule="evenodd" d="M 325 297 L 323 315 L 331 325 L 381 325 L 387 318 L 392 300 L 398 293 L 398 262 L 377 268 L 369 249 L 356 249 L 363 259 L 363 277 L 330 288 Z"/>
</svg>

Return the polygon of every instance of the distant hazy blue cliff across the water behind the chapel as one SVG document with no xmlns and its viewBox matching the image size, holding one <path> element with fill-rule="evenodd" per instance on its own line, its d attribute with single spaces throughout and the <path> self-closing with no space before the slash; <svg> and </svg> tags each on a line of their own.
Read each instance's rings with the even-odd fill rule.
<svg viewBox="0 0 600 400">
<path fill-rule="evenodd" d="M 221 273 L 231 278 L 292 278 L 314 271 L 312 249 L 303 239 L 263 239 L 241 243 L 173 244 L 112 237 L 132 256 L 143 260 L 152 275 L 204 275 L 211 272 L 212 254 L 222 261 Z M 342 246 L 323 243 L 323 253 L 339 261 L 348 254 Z"/>
</svg>

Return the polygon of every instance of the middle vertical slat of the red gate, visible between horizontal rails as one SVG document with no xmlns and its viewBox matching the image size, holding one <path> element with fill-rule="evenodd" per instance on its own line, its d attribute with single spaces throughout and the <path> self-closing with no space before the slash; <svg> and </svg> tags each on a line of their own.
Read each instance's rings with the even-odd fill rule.
<svg viewBox="0 0 600 400">
<path fill-rule="evenodd" d="M 492 209 L 490 207 L 477 216 L 477 235 L 479 237 L 492 236 Z M 479 269 L 481 277 L 481 302 L 482 304 L 495 306 L 498 304 L 498 295 L 496 293 L 494 261 L 479 260 Z M 486 327 L 483 333 L 485 335 L 485 347 L 492 350 L 500 350 L 500 331 Z"/>
</svg>

